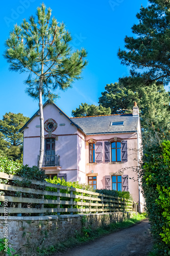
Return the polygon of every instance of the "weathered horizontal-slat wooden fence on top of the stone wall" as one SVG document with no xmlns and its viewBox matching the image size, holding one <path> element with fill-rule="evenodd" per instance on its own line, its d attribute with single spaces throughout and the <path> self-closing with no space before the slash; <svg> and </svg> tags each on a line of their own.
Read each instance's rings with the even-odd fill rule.
<svg viewBox="0 0 170 256">
<path fill-rule="evenodd" d="M 31 186 L 39 186 L 44 190 L 18 186 L 17 182 L 24 180 L 22 177 L 2 172 L 0 178 L 3 179 L 0 184 L 1 215 L 5 212 L 7 202 L 8 214 L 12 216 L 133 211 L 134 208 L 134 202 L 124 198 L 36 180 L 31 180 Z"/>
</svg>

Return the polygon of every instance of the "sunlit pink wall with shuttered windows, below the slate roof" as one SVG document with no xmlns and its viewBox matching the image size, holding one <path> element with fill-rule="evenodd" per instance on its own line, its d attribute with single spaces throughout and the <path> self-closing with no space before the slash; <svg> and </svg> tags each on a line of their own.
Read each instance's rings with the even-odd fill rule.
<svg viewBox="0 0 170 256">
<path fill-rule="evenodd" d="M 118 138 L 122 138 L 128 141 L 128 161 L 125 163 L 105 163 L 105 148 L 104 142 L 108 141 L 109 139 L 113 138 L 114 136 Z M 97 141 L 102 142 L 103 146 L 103 162 L 102 163 L 88 163 L 86 162 L 86 174 L 97 173 L 97 187 L 98 188 L 105 188 L 105 176 L 111 175 L 112 173 L 118 174 L 126 174 L 129 176 L 129 191 L 133 196 L 135 201 L 138 201 L 138 182 L 134 182 L 134 179 L 137 180 L 137 174 L 134 170 L 137 167 L 137 134 L 136 133 L 126 133 L 126 134 L 105 134 L 105 135 L 93 135 L 93 136 L 86 136 L 86 140 L 93 138 Z M 86 144 L 86 159 L 89 158 L 89 147 Z M 134 179 L 132 179 L 134 177 Z M 87 177 L 86 177 L 87 182 Z"/>
</svg>

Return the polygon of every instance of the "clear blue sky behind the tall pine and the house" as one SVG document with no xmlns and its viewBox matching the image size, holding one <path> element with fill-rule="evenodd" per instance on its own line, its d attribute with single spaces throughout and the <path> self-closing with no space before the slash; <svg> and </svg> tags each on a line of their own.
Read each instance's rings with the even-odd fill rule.
<svg viewBox="0 0 170 256">
<path fill-rule="evenodd" d="M 3 58 L 4 42 L 14 24 L 20 24 L 36 12 L 42 1 L 8 0 L 1 2 L 1 94 L 0 119 L 6 112 L 22 113 L 31 117 L 38 110 L 38 101 L 25 93 L 23 81 L 27 74 L 9 71 L 9 65 Z M 113 83 L 119 77 L 129 75 L 128 68 L 120 64 L 117 58 L 118 48 L 124 48 L 124 38 L 131 36 L 131 27 L 137 23 L 136 13 L 147 0 L 48 0 L 46 7 L 53 10 L 58 22 L 64 22 L 73 37 L 72 48 L 88 51 L 88 66 L 83 71 L 83 80 L 79 80 L 65 92 L 57 92 L 60 98 L 55 103 L 68 116 L 83 102 L 98 104 L 101 92 L 107 83 Z"/>
</svg>

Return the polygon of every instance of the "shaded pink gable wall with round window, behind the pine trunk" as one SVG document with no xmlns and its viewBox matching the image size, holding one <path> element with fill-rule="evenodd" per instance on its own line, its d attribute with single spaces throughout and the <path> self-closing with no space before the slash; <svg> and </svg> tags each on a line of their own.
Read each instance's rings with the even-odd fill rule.
<svg viewBox="0 0 170 256">
<path fill-rule="evenodd" d="M 77 161 L 78 144 L 82 147 L 79 141 L 82 139 L 78 136 L 78 129 L 75 125 L 71 125 L 70 120 L 67 119 L 63 114 L 53 105 L 47 104 L 44 109 L 44 122 L 48 118 L 54 119 L 58 126 L 53 134 L 57 135 L 57 140 L 55 142 L 56 154 L 60 156 L 60 173 L 67 174 L 67 180 L 77 181 L 78 169 L 81 168 L 80 163 Z M 60 124 L 65 124 L 60 126 Z M 28 128 L 24 130 L 24 145 L 23 145 L 23 164 L 28 164 L 29 166 L 37 165 L 40 147 L 40 128 L 36 127 L 39 125 L 39 117 L 36 116 L 29 124 Z M 44 131 L 44 135 L 48 133 Z M 82 136 L 82 135 L 81 135 Z M 80 162 L 83 160 L 80 159 Z M 79 166 L 78 166 L 79 165 Z M 85 168 L 83 167 L 83 172 L 85 173 Z M 80 179 L 81 180 L 81 179 Z M 82 182 L 82 181 L 81 181 Z"/>
</svg>

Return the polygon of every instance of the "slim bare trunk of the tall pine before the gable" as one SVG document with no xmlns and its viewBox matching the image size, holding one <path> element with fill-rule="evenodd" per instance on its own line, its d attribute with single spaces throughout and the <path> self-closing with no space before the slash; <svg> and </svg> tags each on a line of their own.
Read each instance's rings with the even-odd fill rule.
<svg viewBox="0 0 170 256">
<path fill-rule="evenodd" d="M 39 153 L 39 161 L 38 168 L 42 168 L 43 155 L 44 155 L 44 116 L 43 116 L 43 108 L 42 108 L 42 78 L 40 79 L 39 86 L 39 118 L 40 118 L 40 153 Z"/>
</svg>

